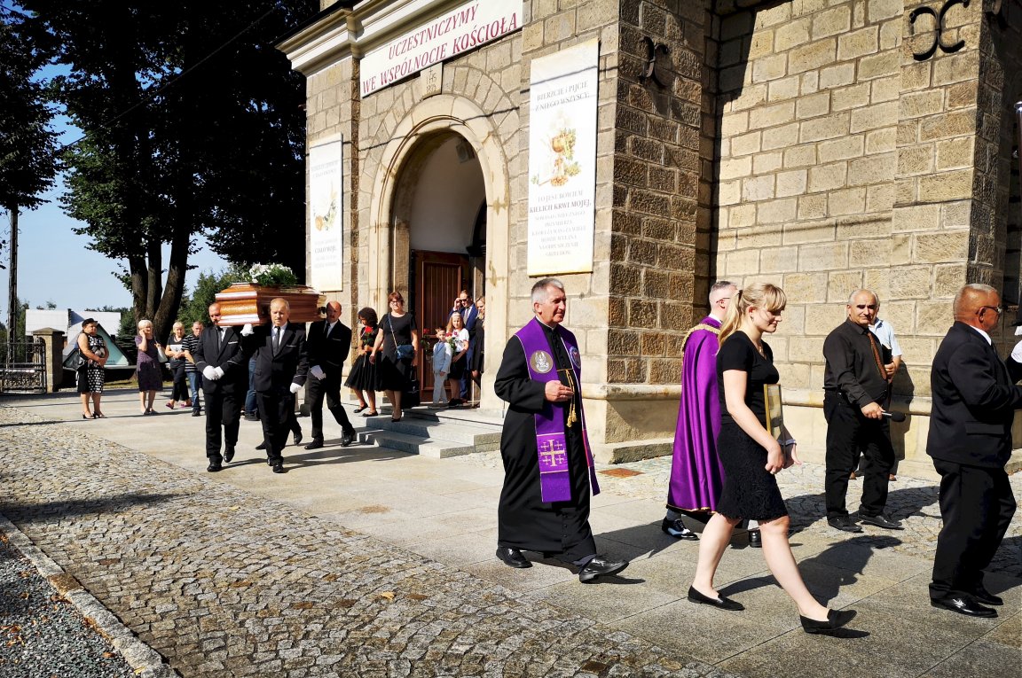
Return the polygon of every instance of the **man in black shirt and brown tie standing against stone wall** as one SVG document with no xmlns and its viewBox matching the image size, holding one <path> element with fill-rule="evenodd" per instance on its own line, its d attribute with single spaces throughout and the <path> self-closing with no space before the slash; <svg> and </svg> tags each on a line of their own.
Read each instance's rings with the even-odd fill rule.
<svg viewBox="0 0 1022 678">
<path fill-rule="evenodd" d="M 865 457 L 858 520 L 875 527 L 900 530 L 884 516 L 887 486 L 894 466 L 890 427 L 882 404 L 887 400 L 890 360 L 870 332 L 880 302 L 871 290 L 855 290 L 845 304 L 848 318 L 824 341 L 824 417 L 827 419 L 827 523 L 844 532 L 862 532 L 845 507 L 848 476 L 858 450 Z"/>
</svg>

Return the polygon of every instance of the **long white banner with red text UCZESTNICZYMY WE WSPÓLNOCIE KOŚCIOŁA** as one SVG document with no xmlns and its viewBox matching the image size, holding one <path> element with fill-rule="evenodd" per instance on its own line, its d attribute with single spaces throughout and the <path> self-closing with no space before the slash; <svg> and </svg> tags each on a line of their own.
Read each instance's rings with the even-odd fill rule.
<svg viewBox="0 0 1022 678">
<path fill-rule="evenodd" d="M 362 96 L 514 33 L 521 7 L 521 0 L 472 0 L 367 52 L 359 64 Z"/>
</svg>

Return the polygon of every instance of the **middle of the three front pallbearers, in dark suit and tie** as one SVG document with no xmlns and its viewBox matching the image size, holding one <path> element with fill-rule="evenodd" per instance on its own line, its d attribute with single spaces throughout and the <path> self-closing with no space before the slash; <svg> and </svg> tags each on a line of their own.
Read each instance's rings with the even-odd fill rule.
<svg viewBox="0 0 1022 678">
<path fill-rule="evenodd" d="M 270 325 L 252 328 L 246 325 L 244 335 L 246 355 L 256 354 L 252 385 L 263 422 L 263 441 L 267 464 L 274 473 L 284 473 L 284 457 L 280 451 L 287 442 L 288 420 L 294 410 L 294 394 L 306 383 L 309 355 L 306 350 L 306 328 L 288 323 L 291 306 L 287 299 L 277 297 L 270 302 Z"/>
</svg>

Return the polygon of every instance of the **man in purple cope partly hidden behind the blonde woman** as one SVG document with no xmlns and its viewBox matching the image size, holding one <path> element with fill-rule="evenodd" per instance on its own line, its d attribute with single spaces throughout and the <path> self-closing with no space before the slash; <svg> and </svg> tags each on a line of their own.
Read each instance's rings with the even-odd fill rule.
<svg viewBox="0 0 1022 678">
<path fill-rule="evenodd" d="M 709 520 L 724 486 L 716 455 L 721 403 L 716 389 L 717 335 L 737 288 L 722 280 L 709 289 L 709 316 L 689 331 L 682 347 L 682 400 L 678 407 L 675 454 L 670 463 L 667 515 L 660 529 L 676 539 L 699 537 L 685 527 L 683 515 Z"/>
</svg>

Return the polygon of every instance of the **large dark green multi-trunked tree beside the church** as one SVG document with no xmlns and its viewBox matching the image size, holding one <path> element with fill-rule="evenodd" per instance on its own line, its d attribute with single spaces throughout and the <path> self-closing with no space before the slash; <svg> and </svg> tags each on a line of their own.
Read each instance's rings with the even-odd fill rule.
<svg viewBox="0 0 1022 678">
<path fill-rule="evenodd" d="M 317 0 L 21 4 L 71 67 L 53 92 L 86 135 L 62 204 L 123 261 L 136 320 L 170 331 L 199 234 L 230 261 L 305 271 L 304 79 L 273 44 Z"/>
</svg>

